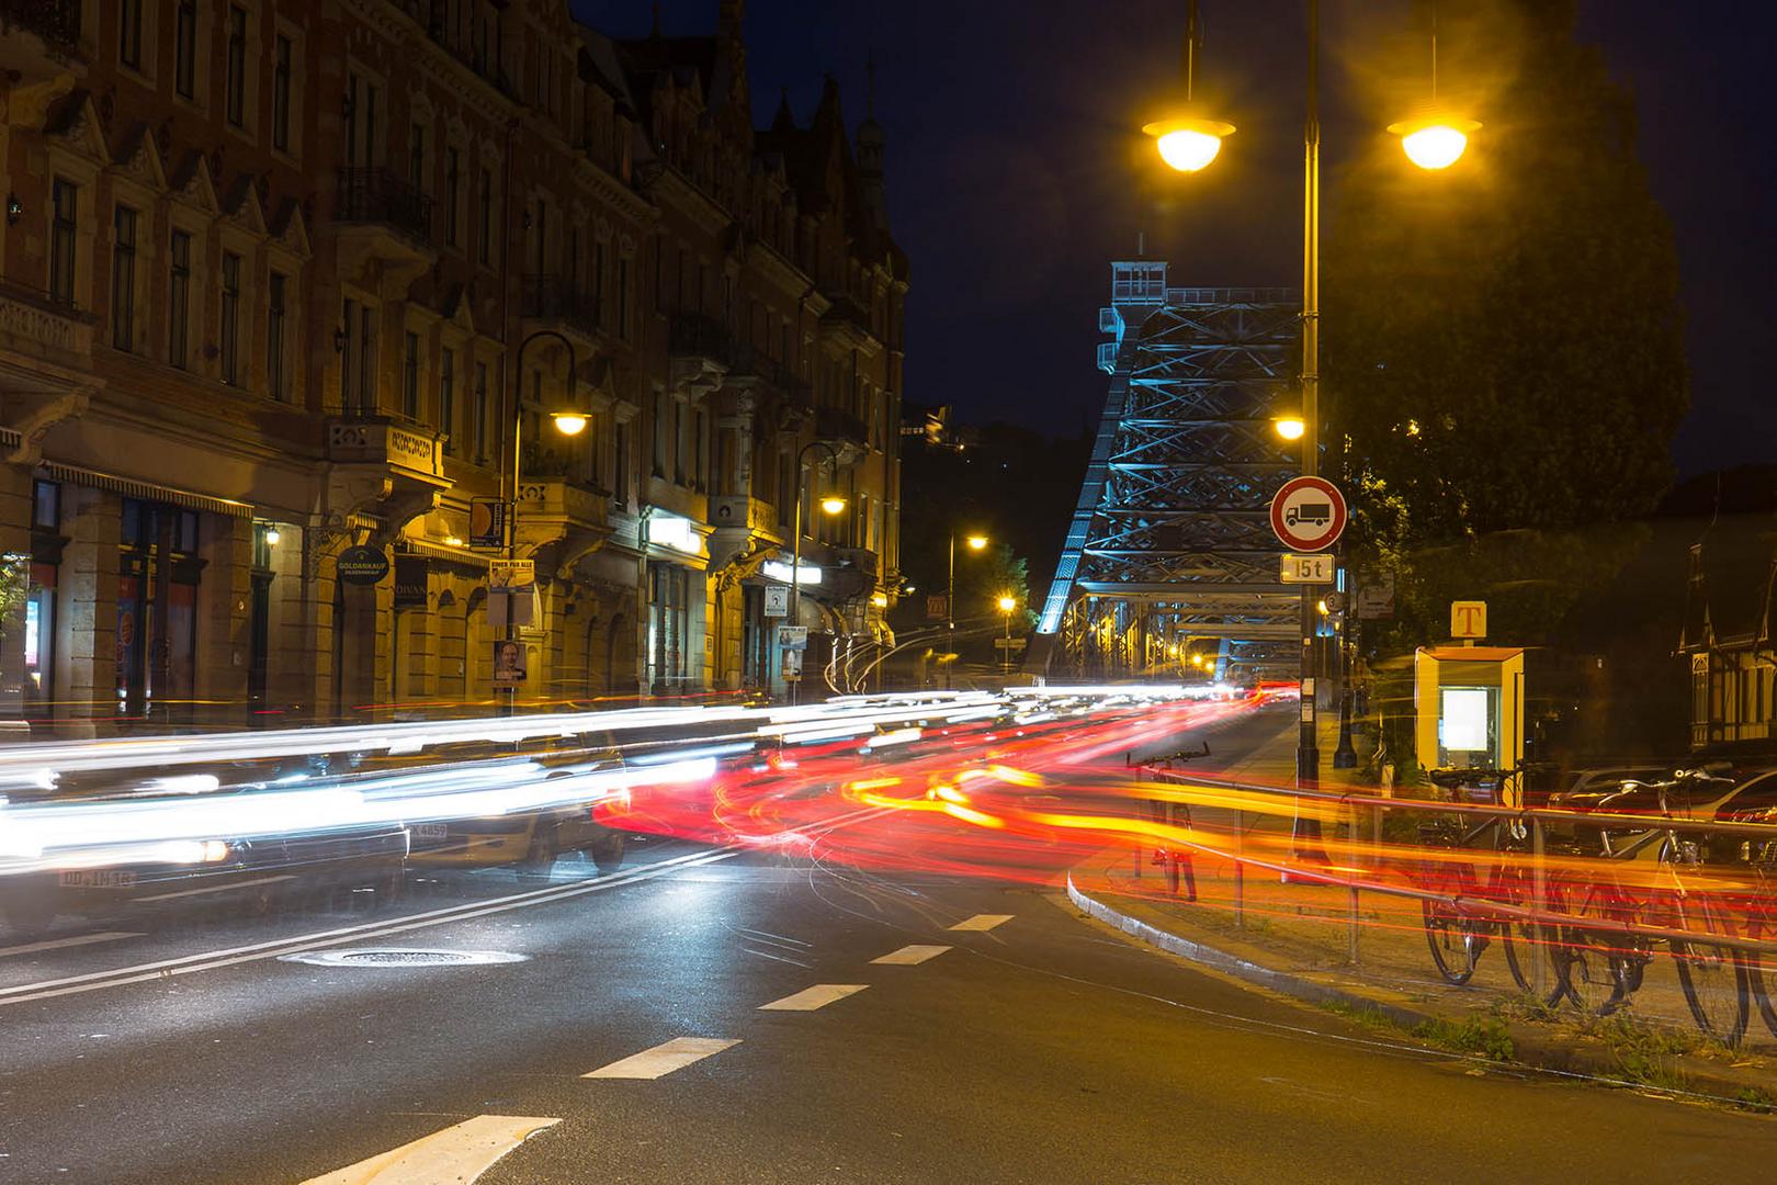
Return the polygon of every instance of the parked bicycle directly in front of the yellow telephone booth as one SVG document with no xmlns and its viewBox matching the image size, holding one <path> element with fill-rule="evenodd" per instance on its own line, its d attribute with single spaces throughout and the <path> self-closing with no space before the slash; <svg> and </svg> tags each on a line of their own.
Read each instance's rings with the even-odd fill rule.
<svg viewBox="0 0 1777 1185">
<path fill-rule="evenodd" d="M 1436 785 L 1473 803 L 1500 805 L 1507 798 L 1510 782 L 1518 778 L 1521 785 L 1523 775 L 1525 766 L 1503 773 L 1434 769 L 1430 778 Z M 1489 837 L 1489 847 L 1480 847 L 1477 842 L 1484 835 Z M 1526 906 L 1532 901 L 1530 874 L 1525 867 L 1528 846 L 1523 826 L 1493 815 L 1468 828 L 1461 817 L 1446 815 L 1420 824 L 1420 844 L 1446 853 L 1459 849 L 1496 853 L 1487 867 L 1486 881 L 1477 874 L 1473 860 L 1445 855 L 1420 863 L 1414 879 L 1422 888 L 1436 894 L 1420 899 L 1420 922 L 1438 974 L 1448 984 L 1466 984 L 1475 977 L 1480 956 L 1498 938 L 1505 949 L 1505 966 L 1512 982 L 1518 984 L 1519 991 L 1534 993 L 1535 965 L 1532 959 L 1541 958 L 1542 950 L 1535 926 L 1502 920 L 1462 906 L 1462 901 L 1494 901 L 1510 906 Z M 1553 984 L 1553 975 L 1546 977 L 1544 982 Z M 1544 1000 L 1553 1004 L 1558 998 L 1558 986 L 1546 986 Z"/>
</svg>

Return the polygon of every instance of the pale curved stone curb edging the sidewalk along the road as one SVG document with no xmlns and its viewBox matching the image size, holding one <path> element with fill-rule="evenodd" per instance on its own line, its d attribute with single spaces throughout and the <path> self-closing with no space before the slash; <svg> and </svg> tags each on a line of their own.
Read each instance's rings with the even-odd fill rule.
<svg viewBox="0 0 1777 1185">
<path fill-rule="evenodd" d="M 1436 1013 L 1422 1013 L 1411 1007 L 1402 1007 L 1398 1004 L 1390 1004 L 1388 1000 L 1377 1000 L 1368 995 L 1356 991 L 1347 991 L 1343 988 L 1335 988 L 1331 984 L 1317 982 L 1313 979 L 1304 979 L 1303 975 L 1292 975 L 1290 972 L 1279 972 L 1251 959 L 1242 959 L 1237 954 L 1228 954 L 1226 950 L 1217 950 L 1201 942 L 1183 938 L 1171 931 L 1160 929 L 1151 922 L 1143 922 L 1134 919 L 1096 897 L 1082 892 L 1073 883 L 1073 872 L 1068 872 L 1068 901 L 1072 901 L 1082 913 L 1093 917 L 1114 929 L 1123 931 L 1130 938 L 1137 938 L 1151 947 L 1166 950 L 1167 954 L 1176 954 L 1182 959 L 1192 963 L 1201 963 L 1212 970 L 1244 979 L 1246 982 L 1256 984 L 1260 988 L 1271 988 L 1281 995 L 1304 1000 L 1308 1004 L 1343 1004 L 1352 1009 L 1367 1011 L 1375 1016 L 1406 1029 L 1413 1030 L 1427 1022 L 1438 1020 Z M 1754 1018 L 1757 1023 L 1757 1018 Z M 1514 1057 L 1512 1062 L 1518 1066 L 1528 1066 L 1535 1070 L 1546 1070 L 1557 1075 L 1573 1075 L 1605 1082 L 1608 1086 L 1626 1087 L 1631 1091 L 1644 1091 L 1651 1094 L 1663 1096 L 1690 1096 L 1697 1100 L 1709 1100 L 1718 1103 L 1743 1105 L 1736 1093 L 1757 1086 L 1761 1091 L 1768 1087 L 1763 1078 L 1743 1078 L 1733 1073 L 1722 1073 L 1720 1068 L 1708 1062 L 1692 1062 L 1685 1068 L 1690 1078 L 1688 1089 L 1663 1089 L 1649 1087 L 1638 1082 L 1630 1082 L 1622 1077 L 1619 1066 L 1612 1062 L 1612 1057 L 1605 1050 L 1587 1048 L 1583 1045 L 1573 1045 L 1560 1039 L 1555 1034 L 1535 1032 L 1525 1025 L 1510 1025 Z M 1754 1110 L 1763 1110 L 1766 1107 L 1752 1107 Z"/>
</svg>

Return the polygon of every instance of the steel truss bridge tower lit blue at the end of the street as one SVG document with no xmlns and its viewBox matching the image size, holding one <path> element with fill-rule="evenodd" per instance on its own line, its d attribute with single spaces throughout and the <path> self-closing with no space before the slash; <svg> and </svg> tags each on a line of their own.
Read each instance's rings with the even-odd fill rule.
<svg viewBox="0 0 1777 1185">
<path fill-rule="evenodd" d="M 1301 302 L 1287 288 L 1167 288 L 1111 265 L 1111 375 L 1086 485 L 1027 668 L 1052 679 L 1294 679 L 1301 600 L 1279 583 L 1271 496 L 1301 471 Z"/>
</svg>

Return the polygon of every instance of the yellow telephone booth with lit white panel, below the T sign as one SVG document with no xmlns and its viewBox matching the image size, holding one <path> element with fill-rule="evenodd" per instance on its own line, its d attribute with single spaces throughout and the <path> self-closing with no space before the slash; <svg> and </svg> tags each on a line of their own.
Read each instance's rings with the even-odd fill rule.
<svg viewBox="0 0 1777 1185">
<path fill-rule="evenodd" d="M 1413 711 L 1422 767 L 1516 769 L 1525 760 L 1523 648 L 1420 647 Z"/>
</svg>

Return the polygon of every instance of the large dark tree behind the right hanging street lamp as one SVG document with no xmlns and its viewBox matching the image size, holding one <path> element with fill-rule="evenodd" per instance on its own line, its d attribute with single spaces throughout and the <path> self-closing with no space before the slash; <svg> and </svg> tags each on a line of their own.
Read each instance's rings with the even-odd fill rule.
<svg viewBox="0 0 1777 1185">
<path fill-rule="evenodd" d="M 1672 233 L 1573 2 L 1439 18 L 1486 126 L 1446 172 L 1352 169 L 1326 251 L 1329 412 L 1359 544 L 1395 560 L 1653 510 L 1688 403 Z"/>
</svg>

